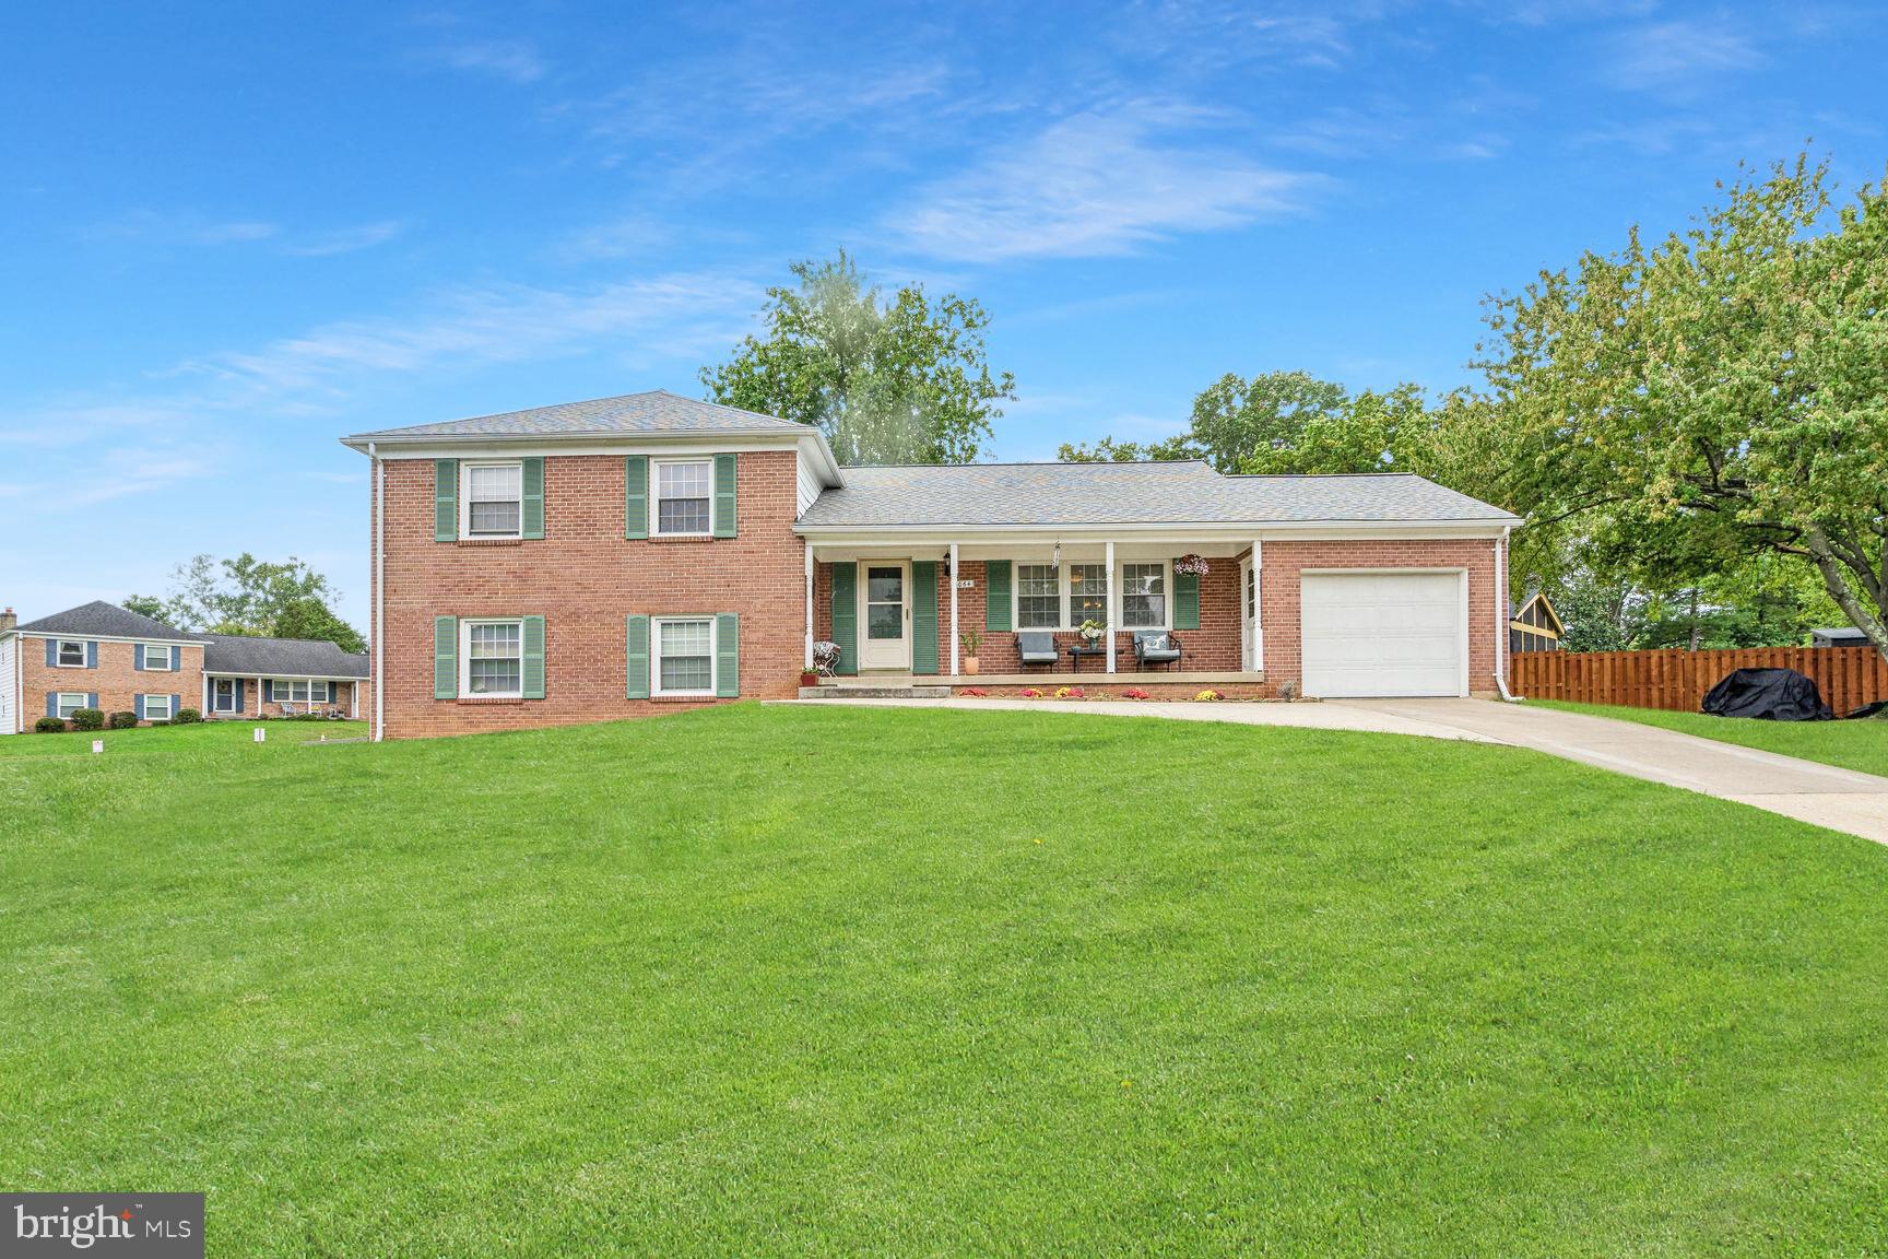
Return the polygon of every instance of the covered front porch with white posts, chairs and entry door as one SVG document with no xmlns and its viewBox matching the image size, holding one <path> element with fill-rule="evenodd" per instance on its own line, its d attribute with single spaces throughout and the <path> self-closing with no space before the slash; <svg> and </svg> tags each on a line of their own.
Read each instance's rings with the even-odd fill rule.
<svg viewBox="0 0 1888 1259">
<path fill-rule="evenodd" d="M 808 691 L 1157 685 L 1256 695 L 1265 685 L 1257 553 L 1257 542 L 1197 536 L 810 538 L 806 664 L 816 642 L 838 644 L 840 659 L 836 676 Z M 1091 644 L 1084 623 L 1101 627 Z M 1137 636 L 1150 634 L 1180 659 L 1142 663 Z M 1054 663 L 1025 666 L 1023 636 L 1031 649 L 1054 651 Z"/>
</svg>

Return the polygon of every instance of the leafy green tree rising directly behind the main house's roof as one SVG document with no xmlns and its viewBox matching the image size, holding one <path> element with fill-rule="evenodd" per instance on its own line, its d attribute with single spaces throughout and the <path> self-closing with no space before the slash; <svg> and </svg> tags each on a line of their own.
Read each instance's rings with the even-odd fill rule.
<svg viewBox="0 0 1888 1259">
<path fill-rule="evenodd" d="M 989 372 L 984 308 L 919 285 L 884 300 L 844 249 L 791 270 L 797 285 L 767 291 L 767 336 L 702 368 L 708 396 L 819 427 L 842 464 L 974 461 L 1016 396 Z"/>
</svg>

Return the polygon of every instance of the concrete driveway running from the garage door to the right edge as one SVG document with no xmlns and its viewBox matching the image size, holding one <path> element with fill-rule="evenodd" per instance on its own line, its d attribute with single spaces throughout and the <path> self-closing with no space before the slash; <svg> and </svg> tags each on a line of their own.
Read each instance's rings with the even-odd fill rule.
<svg viewBox="0 0 1888 1259">
<path fill-rule="evenodd" d="M 1533 747 L 1888 844 L 1888 778 L 1873 774 L 1694 738 L 1637 721 L 1529 704 L 1331 700 L 1320 708 L 1354 708 L 1380 717 L 1450 727 L 1490 742 Z"/>
</svg>

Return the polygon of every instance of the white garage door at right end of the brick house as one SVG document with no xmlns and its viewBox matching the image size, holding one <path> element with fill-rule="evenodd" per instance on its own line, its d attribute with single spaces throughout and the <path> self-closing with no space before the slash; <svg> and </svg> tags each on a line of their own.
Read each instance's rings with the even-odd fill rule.
<svg viewBox="0 0 1888 1259">
<path fill-rule="evenodd" d="M 1301 578 L 1305 695 L 1467 695 L 1467 583 L 1459 572 Z"/>
</svg>

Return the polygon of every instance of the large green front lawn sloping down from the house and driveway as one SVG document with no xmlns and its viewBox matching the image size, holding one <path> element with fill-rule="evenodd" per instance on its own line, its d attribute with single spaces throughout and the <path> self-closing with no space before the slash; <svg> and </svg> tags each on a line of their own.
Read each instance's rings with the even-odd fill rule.
<svg viewBox="0 0 1888 1259">
<path fill-rule="evenodd" d="M 204 1189 L 215 1255 L 1888 1250 L 1863 840 L 1378 734 L 291 729 L 0 761 L 9 1189 Z"/>
</svg>

